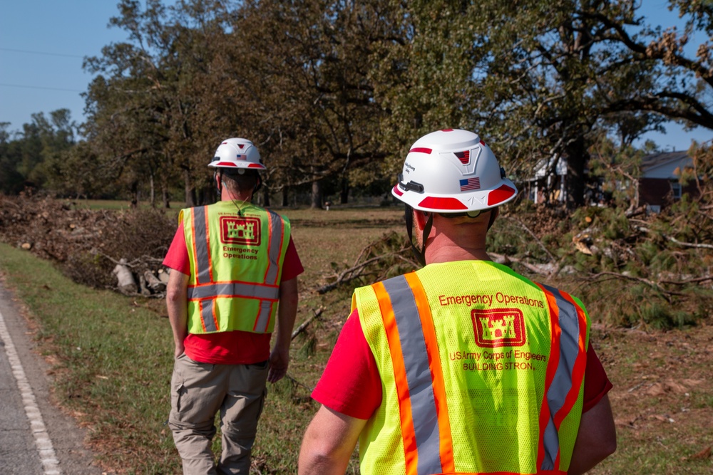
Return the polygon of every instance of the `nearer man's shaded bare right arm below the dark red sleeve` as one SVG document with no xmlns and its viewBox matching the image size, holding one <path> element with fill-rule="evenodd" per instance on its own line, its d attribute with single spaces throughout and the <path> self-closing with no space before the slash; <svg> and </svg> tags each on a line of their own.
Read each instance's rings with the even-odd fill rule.
<svg viewBox="0 0 713 475">
<path fill-rule="evenodd" d="M 605 395 L 582 414 L 580 429 L 567 475 L 586 473 L 617 449 L 617 431 L 609 397 Z"/>
</svg>

